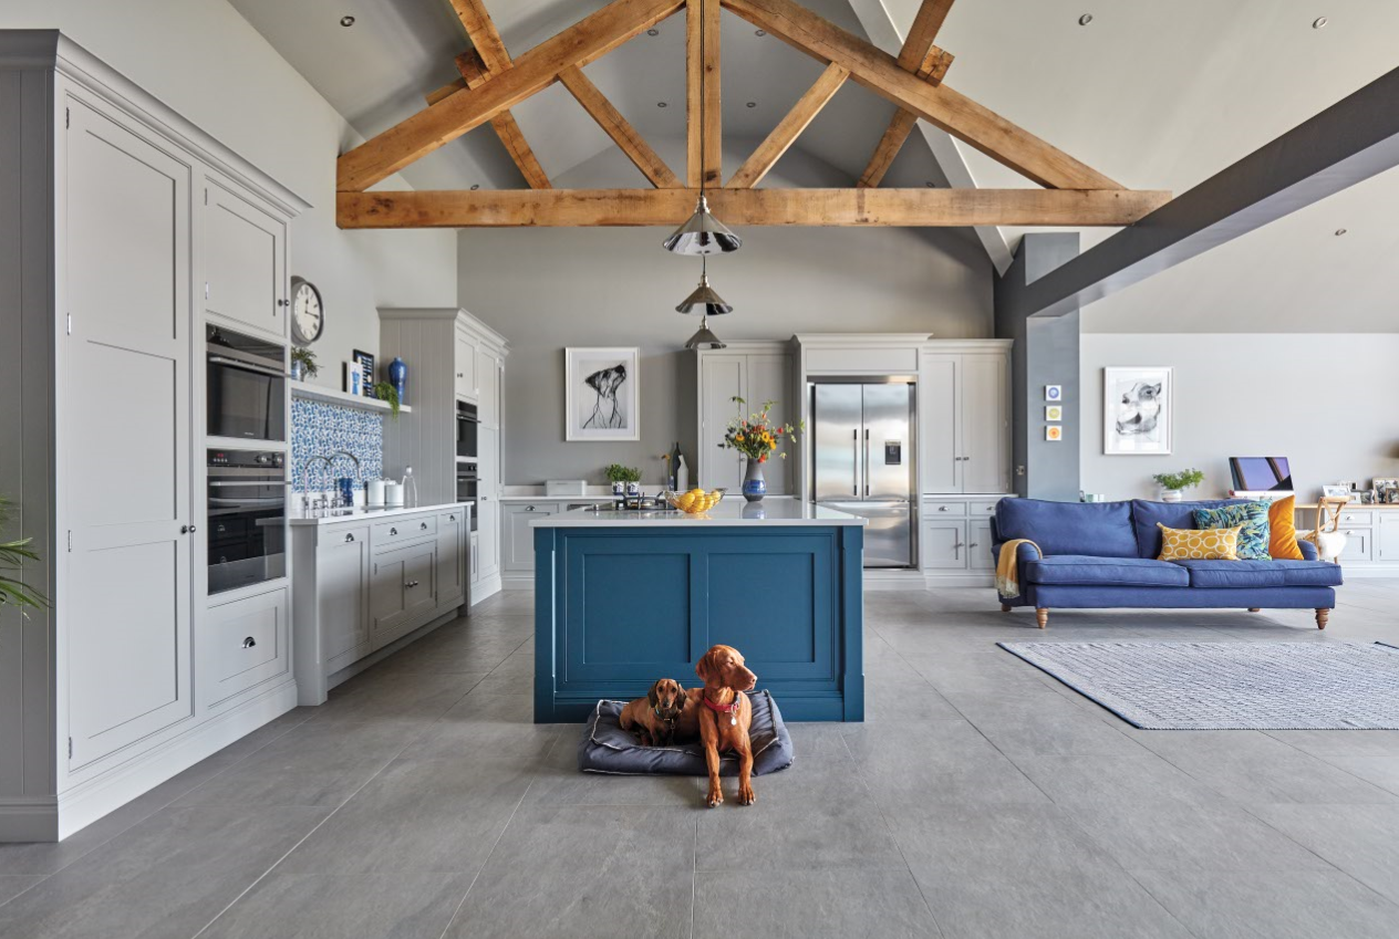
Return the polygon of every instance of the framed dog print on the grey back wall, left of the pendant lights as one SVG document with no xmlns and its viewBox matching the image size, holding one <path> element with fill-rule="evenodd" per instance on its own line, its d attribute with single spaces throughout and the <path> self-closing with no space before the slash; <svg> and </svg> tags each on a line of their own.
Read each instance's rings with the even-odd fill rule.
<svg viewBox="0 0 1399 939">
<path fill-rule="evenodd" d="M 564 439 L 641 440 L 641 349 L 564 349 Z"/>
</svg>

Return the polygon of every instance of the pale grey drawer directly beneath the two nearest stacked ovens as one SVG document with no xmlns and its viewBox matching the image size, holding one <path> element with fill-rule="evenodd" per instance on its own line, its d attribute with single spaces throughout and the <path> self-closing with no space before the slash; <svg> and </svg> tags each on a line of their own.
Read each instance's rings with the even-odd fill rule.
<svg viewBox="0 0 1399 939">
<path fill-rule="evenodd" d="M 200 654 L 208 662 L 217 704 L 291 668 L 287 590 L 248 597 L 208 611 Z"/>
</svg>

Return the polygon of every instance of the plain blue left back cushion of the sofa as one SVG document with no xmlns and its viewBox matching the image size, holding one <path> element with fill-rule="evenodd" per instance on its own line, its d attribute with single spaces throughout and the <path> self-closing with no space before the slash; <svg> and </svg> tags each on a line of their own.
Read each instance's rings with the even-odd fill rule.
<svg viewBox="0 0 1399 939">
<path fill-rule="evenodd" d="M 996 531 L 1002 541 L 1028 538 L 1044 555 L 1137 556 L 1128 502 L 1002 499 Z"/>
</svg>

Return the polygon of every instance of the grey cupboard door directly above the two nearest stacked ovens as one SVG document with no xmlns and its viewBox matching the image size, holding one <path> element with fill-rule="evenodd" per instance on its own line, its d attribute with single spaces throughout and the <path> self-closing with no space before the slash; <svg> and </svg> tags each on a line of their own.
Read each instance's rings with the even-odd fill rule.
<svg viewBox="0 0 1399 939">
<path fill-rule="evenodd" d="M 287 335 L 287 222 L 239 186 L 204 179 L 204 309 Z"/>
</svg>

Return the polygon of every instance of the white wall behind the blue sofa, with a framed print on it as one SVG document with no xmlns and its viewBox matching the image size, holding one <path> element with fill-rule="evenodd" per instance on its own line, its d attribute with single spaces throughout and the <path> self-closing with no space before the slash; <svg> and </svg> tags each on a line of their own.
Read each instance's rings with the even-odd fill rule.
<svg viewBox="0 0 1399 939">
<path fill-rule="evenodd" d="M 1154 474 L 1195 467 L 1198 495 L 1221 496 L 1230 457 L 1287 457 L 1308 499 L 1399 476 L 1399 335 L 1086 333 L 1081 354 L 1087 492 L 1154 497 Z M 1123 365 L 1175 369 L 1171 456 L 1104 456 L 1102 369 Z"/>
</svg>

